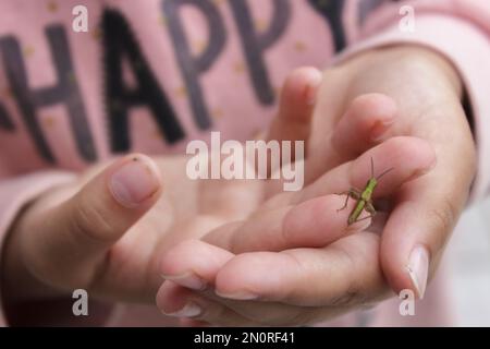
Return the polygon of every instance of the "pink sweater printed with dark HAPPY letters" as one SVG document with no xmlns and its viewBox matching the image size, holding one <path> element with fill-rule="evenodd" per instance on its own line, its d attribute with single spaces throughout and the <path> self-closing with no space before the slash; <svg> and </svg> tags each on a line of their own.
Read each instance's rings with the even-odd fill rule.
<svg viewBox="0 0 490 349">
<path fill-rule="evenodd" d="M 88 9 L 88 33 L 72 31 L 77 4 Z M 404 4 L 415 8 L 415 33 L 399 28 Z M 94 163 L 182 153 L 211 130 L 252 139 L 271 120 L 287 72 L 393 43 L 425 45 L 460 71 L 479 152 L 473 198 L 488 194 L 488 1 L 0 1 L 0 248 L 23 205 Z M 432 299 L 432 309 L 439 303 Z M 369 324 L 444 324 L 441 312 L 414 322 L 396 309 L 387 303 Z M 48 311 L 45 324 L 63 324 L 56 314 Z M 346 323 L 363 323 L 355 318 Z M 124 305 L 106 324 L 164 321 L 155 306 Z"/>
</svg>

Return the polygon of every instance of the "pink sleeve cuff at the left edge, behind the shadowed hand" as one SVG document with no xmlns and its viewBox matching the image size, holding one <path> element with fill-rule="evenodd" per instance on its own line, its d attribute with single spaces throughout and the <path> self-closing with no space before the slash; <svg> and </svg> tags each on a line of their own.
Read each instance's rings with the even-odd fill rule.
<svg viewBox="0 0 490 349">
<path fill-rule="evenodd" d="M 19 212 L 44 191 L 73 180 L 71 173 L 63 171 L 42 171 L 15 178 L 0 179 L 0 262 L 1 251 L 9 228 Z M 2 265 L 0 263 L 0 270 Z M 2 285 L 0 285 L 0 291 Z M 0 299 L 1 294 L 0 294 Z M 0 304 L 0 326 L 7 325 L 4 314 L 5 304 Z"/>
</svg>

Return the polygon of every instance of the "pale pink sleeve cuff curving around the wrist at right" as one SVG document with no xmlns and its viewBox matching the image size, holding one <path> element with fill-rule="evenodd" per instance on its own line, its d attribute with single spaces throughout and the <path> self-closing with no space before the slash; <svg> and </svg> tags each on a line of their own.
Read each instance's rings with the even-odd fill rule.
<svg viewBox="0 0 490 349">
<path fill-rule="evenodd" d="M 403 32 L 402 5 L 413 5 L 414 32 Z M 490 2 L 473 0 L 390 3 L 366 21 L 356 43 L 339 57 L 375 47 L 417 44 L 443 55 L 458 71 L 475 121 L 478 172 L 471 201 L 490 194 Z"/>
</svg>

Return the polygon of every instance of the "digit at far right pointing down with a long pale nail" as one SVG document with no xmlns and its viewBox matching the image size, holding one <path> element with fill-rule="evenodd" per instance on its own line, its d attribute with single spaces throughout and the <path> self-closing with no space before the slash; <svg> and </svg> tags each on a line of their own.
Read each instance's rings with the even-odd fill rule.
<svg viewBox="0 0 490 349">
<path fill-rule="evenodd" d="M 380 262 L 397 293 L 409 289 L 417 298 L 424 298 L 465 207 L 475 160 L 470 151 L 460 151 L 465 146 L 455 140 L 457 136 L 451 139 L 454 148 L 448 146 L 445 154 L 440 152 L 438 165 L 430 173 L 402 188 L 384 226 Z"/>
</svg>

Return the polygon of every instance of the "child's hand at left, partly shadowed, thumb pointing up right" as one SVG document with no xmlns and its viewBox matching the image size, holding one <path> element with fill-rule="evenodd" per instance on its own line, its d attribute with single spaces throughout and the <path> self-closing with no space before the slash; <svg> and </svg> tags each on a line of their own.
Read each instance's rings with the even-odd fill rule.
<svg viewBox="0 0 490 349">
<path fill-rule="evenodd" d="M 303 92 L 316 93 L 321 74 L 313 77 L 292 74 L 282 113 L 308 119 L 313 105 Z M 75 288 L 93 299 L 152 302 L 168 249 L 245 219 L 265 197 L 267 181 L 193 181 L 186 164 L 130 155 L 44 193 L 20 214 L 3 248 L 8 303 L 71 299 Z"/>
</svg>

